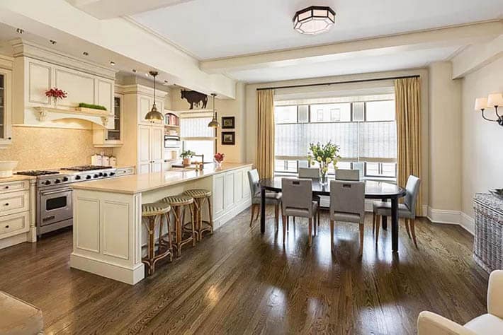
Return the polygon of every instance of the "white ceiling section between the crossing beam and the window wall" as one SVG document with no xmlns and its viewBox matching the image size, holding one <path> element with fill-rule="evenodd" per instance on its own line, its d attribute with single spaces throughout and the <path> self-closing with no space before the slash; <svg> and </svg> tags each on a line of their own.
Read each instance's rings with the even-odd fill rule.
<svg viewBox="0 0 503 335">
<path fill-rule="evenodd" d="M 420 49 L 366 57 L 353 57 L 336 61 L 324 61 L 294 66 L 269 67 L 244 71 L 232 71 L 228 75 L 247 83 L 265 83 L 300 78 L 363 74 L 401 69 L 418 69 L 433 61 L 443 61 L 456 53 L 459 47 Z"/>
</svg>

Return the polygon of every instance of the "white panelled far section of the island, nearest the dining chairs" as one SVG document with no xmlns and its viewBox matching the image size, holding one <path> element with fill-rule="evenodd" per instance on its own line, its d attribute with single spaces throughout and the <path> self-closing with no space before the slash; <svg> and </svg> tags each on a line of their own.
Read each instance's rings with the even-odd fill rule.
<svg viewBox="0 0 503 335">
<path fill-rule="evenodd" d="M 213 221 L 220 227 L 251 204 L 247 172 L 252 167 L 222 172 L 213 176 Z"/>
</svg>

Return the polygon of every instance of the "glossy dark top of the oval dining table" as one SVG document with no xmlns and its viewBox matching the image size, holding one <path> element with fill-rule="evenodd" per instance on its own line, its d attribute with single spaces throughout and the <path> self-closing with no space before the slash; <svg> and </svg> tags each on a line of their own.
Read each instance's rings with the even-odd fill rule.
<svg viewBox="0 0 503 335">
<path fill-rule="evenodd" d="M 273 177 L 260 180 L 261 187 L 269 191 L 281 192 L 281 180 L 284 177 Z M 286 177 L 288 178 L 288 177 Z M 320 180 L 312 180 L 312 194 L 315 195 L 330 195 L 330 182 L 328 184 L 320 184 Z M 406 192 L 400 186 L 396 184 L 391 184 L 390 182 L 375 182 L 372 180 L 367 180 L 365 182 L 365 197 L 367 199 L 392 199 L 401 198 L 405 196 Z"/>
</svg>

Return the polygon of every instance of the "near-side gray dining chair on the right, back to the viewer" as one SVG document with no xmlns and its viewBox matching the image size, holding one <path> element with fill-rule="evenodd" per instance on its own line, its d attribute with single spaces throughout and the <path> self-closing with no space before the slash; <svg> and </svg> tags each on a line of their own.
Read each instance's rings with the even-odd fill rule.
<svg viewBox="0 0 503 335">
<path fill-rule="evenodd" d="M 365 182 L 330 182 L 330 247 L 334 245 L 334 221 L 360 225 L 360 255 L 365 226 Z"/>
</svg>

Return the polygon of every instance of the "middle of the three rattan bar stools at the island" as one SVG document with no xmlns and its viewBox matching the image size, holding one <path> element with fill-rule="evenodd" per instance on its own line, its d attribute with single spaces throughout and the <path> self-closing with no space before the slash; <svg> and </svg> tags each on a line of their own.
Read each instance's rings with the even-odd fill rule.
<svg viewBox="0 0 503 335">
<path fill-rule="evenodd" d="M 192 242 L 192 245 L 196 245 L 196 231 L 194 230 L 194 213 L 192 204 L 194 202 L 193 197 L 185 196 L 185 195 L 177 195 L 177 196 L 166 196 L 161 200 L 164 204 L 169 204 L 171 208 L 173 208 L 173 216 L 175 219 L 174 223 L 174 234 L 175 241 L 173 243 L 173 247 L 176 248 L 176 254 L 178 256 L 181 255 L 181 247 L 186 245 L 189 242 Z M 183 231 L 183 221 L 185 220 L 185 214 L 187 209 L 191 213 L 191 231 Z M 183 233 L 187 233 L 186 236 L 183 236 Z"/>
</svg>

